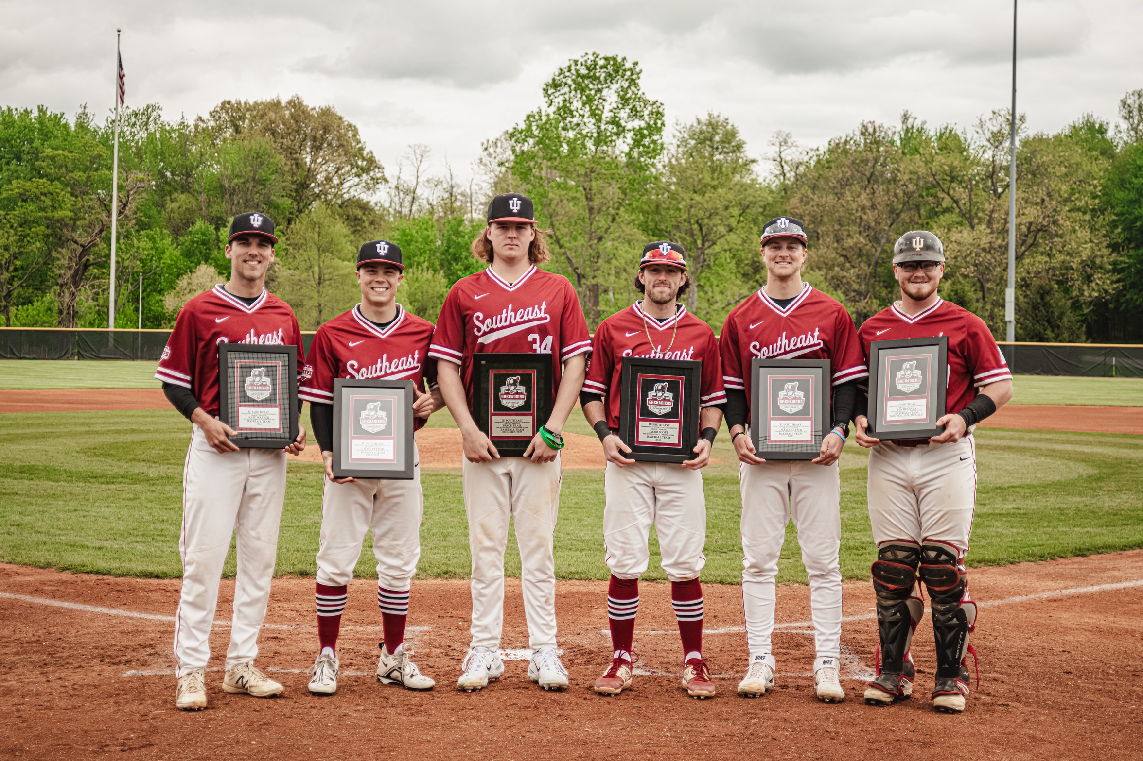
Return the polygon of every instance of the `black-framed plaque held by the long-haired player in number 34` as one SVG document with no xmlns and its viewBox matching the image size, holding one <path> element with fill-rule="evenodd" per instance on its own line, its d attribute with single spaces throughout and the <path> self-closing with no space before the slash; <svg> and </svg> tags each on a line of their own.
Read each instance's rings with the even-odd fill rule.
<svg viewBox="0 0 1143 761">
<path fill-rule="evenodd" d="M 552 414 L 552 355 L 472 355 L 477 426 L 502 458 L 522 458 Z"/>
</svg>

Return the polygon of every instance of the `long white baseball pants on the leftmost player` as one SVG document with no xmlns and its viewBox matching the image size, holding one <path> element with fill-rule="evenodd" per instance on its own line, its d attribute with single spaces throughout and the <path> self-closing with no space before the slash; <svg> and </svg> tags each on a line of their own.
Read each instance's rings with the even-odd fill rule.
<svg viewBox="0 0 1143 761">
<path fill-rule="evenodd" d="M 218 454 L 193 427 L 183 470 L 183 527 L 178 553 L 183 588 L 175 614 L 176 675 L 210 659 L 210 628 L 218 583 L 238 534 L 234 616 L 226 667 L 258 655 L 270 581 L 278 559 L 278 527 L 286 496 L 286 453 L 240 450 Z"/>
</svg>

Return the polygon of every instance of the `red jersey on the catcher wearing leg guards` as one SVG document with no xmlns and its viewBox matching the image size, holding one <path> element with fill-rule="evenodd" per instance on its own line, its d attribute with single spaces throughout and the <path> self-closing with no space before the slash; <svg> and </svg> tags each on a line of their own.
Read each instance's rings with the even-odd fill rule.
<svg viewBox="0 0 1143 761">
<path fill-rule="evenodd" d="M 1008 363 L 1000 354 L 992 332 L 984 321 L 964 309 L 937 299 L 936 303 L 910 317 L 894 303 L 877 313 L 857 331 L 862 349 L 869 357 L 873 341 L 904 338 L 949 337 L 949 382 L 945 414 L 960 412 L 976 397 L 976 388 L 1012 380 Z"/>
</svg>

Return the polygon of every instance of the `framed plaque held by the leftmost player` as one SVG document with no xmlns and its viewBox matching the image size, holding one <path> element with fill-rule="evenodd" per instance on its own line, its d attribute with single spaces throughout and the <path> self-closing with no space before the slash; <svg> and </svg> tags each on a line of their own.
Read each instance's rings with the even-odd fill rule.
<svg viewBox="0 0 1143 761">
<path fill-rule="evenodd" d="M 218 345 L 218 420 L 243 448 L 281 450 L 297 438 L 297 347 Z"/>
</svg>

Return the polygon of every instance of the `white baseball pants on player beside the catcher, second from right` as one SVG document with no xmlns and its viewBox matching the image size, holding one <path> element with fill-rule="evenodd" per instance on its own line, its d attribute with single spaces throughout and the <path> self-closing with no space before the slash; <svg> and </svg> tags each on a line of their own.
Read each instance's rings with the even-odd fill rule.
<svg viewBox="0 0 1143 761">
<path fill-rule="evenodd" d="M 798 528 L 809 577 L 814 648 L 818 657 L 841 655 L 841 480 L 838 464 L 772 460 L 738 467 L 742 492 L 742 607 L 750 656 L 770 655 L 778 556 L 786 524 Z"/>
</svg>

